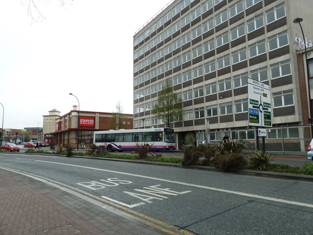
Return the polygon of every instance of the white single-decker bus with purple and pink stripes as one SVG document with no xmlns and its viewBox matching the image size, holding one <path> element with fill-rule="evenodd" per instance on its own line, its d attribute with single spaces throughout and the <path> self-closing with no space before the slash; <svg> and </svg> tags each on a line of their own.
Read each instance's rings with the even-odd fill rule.
<svg viewBox="0 0 313 235">
<path fill-rule="evenodd" d="M 172 128 L 95 131 L 93 143 L 112 151 L 130 151 L 139 145 L 152 145 L 151 151 L 175 150 L 175 133 Z"/>
</svg>

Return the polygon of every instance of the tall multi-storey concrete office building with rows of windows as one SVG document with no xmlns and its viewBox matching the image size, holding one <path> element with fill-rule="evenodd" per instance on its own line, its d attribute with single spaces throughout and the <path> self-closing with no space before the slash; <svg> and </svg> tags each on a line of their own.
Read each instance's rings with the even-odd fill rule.
<svg viewBox="0 0 313 235">
<path fill-rule="evenodd" d="M 169 79 L 184 107 L 183 121 L 172 125 L 177 142 L 255 140 L 249 77 L 271 88 L 267 138 L 310 139 L 304 43 L 311 51 L 311 6 L 311 0 L 171 1 L 134 35 L 134 128 L 164 126 L 151 110 Z M 309 52 L 313 71 L 311 58 Z"/>
</svg>

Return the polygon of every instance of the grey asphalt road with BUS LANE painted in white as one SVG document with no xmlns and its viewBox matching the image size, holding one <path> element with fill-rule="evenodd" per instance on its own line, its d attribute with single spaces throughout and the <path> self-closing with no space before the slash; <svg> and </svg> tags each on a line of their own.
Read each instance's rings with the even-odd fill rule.
<svg viewBox="0 0 313 235">
<path fill-rule="evenodd" d="M 0 167 L 44 179 L 180 235 L 312 234 L 313 183 L 0 152 Z"/>
</svg>

